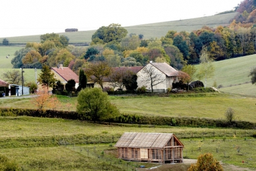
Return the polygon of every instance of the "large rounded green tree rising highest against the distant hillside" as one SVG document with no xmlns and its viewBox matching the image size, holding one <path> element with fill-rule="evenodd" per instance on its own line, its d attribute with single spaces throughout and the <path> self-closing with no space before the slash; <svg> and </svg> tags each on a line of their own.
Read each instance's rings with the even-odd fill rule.
<svg viewBox="0 0 256 171">
<path fill-rule="evenodd" d="M 99 39 L 103 40 L 103 43 L 109 43 L 111 41 L 120 42 L 127 34 L 127 30 L 122 28 L 120 24 L 110 24 L 107 27 L 102 26 L 99 28 L 93 36 L 91 36 L 91 41 L 93 44 L 97 44 Z"/>
</svg>

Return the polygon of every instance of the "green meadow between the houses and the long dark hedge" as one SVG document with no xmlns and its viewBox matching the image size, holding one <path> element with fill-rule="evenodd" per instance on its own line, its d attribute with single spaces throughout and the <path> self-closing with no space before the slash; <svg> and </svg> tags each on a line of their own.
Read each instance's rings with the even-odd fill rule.
<svg viewBox="0 0 256 171">
<path fill-rule="evenodd" d="M 59 96 L 62 102 L 59 110 L 76 110 L 76 97 Z M 231 107 L 236 120 L 256 122 L 256 100 L 253 97 L 231 95 L 223 93 L 210 94 L 182 94 L 169 97 L 116 97 L 111 96 L 111 103 L 122 113 L 151 116 L 199 117 L 224 119 L 224 113 Z M 69 107 L 68 107 L 69 106 Z M 0 99 L 0 107 L 17 107 L 36 109 L 32 99 Z"/>
</svg>

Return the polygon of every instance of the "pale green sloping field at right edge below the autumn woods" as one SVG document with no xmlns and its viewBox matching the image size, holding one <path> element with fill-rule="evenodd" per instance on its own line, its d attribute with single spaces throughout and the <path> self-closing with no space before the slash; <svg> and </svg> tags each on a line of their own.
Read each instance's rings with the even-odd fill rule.
<svg viewBox="0 0 256 171">
<path fill-rule="evenodd" d="M 248 77 L 251 69 L 256 67 L 256 55 L 217 61 L 213 64 L 215 76 L 207 79 L 207 87 L 217 82 L 218 86 L 222 86 L 219 90 L 225 93 L 256 96 L 256 86 L 251 84 L 251 78 Z M 201 81 L 205 84 L 204 79 Z"/>
</svg>

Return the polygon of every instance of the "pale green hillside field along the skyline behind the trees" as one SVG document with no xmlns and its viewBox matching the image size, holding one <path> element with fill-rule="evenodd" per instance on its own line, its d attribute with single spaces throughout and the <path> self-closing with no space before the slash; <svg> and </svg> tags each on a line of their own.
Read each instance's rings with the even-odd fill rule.
<svg viewBox="0 0 256 171">
<path fill-rule="evenodd" d="M 128 34 L 143 34 L 145 39 L 151 37 L 162 37 L 165 36 L 168 30 L 176 30 L 177 32 L 187 31 L 192 32 L 193 30 L 198 30 L 202 26 L 209 26 L 216 28 L 217 26 L 226 26 L 230 23 L 230 20 L 238 14 L 237 12 L 228 14 L 218 14 L 214 16 L 205 16 L 200 18 L 192 18 L 187 20 L 176 20 L 168 22 L 159 22 L 152 24 L 142 24 L 137 26 L 125 27 L 128 30 Z M 111 23 L 109 23 L 111 24 Z M 121 23 L 120 23 L 121 24 Z M 64 30 L 64 28 L 63 28 Z M 68 32 L 68 33 L 58 33 L 60 35 L 68 36 L 70 43 L 84 43 L 90 42 L 91 36 L 96 30 L 90 31 L 80 31 L 80 32 Z M 47 33 L 45 33 L 47 34 Z M 26 43 L 26 42 L 39 42 L 40 35 L 34 36 L 20 36 L 20 37 L 7 37 L 10 43 Z M 3 37 L 4 38 L 4 37 Z M 2 41 L 2 39 L 0 39 Z"/>
</svg>

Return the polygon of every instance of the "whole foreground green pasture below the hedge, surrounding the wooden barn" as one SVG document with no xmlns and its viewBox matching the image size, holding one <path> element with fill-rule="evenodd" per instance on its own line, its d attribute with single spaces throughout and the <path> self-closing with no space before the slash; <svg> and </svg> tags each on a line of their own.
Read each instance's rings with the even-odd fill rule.
<svg viewBox="0 0 256 171">
<path fill-rule="evenodd" d="M 131 124 L 111 126 L 78 120 L 28 116 L 1 116 L 0 124 L 0 153 L 18 162 L 24 170 L 127 170 L 127 163 L 128 170 L 132 170 L 134 166 L 158 165 L 116 160 L 113 145 L 124 132 L 174 133 L 184 143 L 185 159 L 197 159 L 199 154 L 210 152 L 223 163 L 236 164 L 244 168 L 256 167 L 253 162 L 256 159 L 256 140 L 249 137 L 255 134 L 255 130 L 147 125 L 139 127 Z M 115 137 L 114 141 L 99 144 L 101 139 L 107 136 Z M 95 141 L 88 145 L 88 137 Z M 47 143 L 49 139 L 50 145 Z M 62 139 L 64 144 L 56 143 L 59 139 Z M 76 143 L 78 139 L 82 141 Z"/>
</svg>

